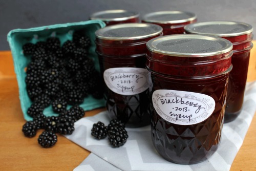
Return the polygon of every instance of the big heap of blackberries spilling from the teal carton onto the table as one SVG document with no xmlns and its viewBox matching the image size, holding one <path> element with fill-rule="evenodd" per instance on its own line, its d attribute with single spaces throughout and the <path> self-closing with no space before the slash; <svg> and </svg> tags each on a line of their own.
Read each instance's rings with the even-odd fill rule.
<svg viewBox="0 0 256 171">
<path fill-rule="evenodd" d="M 25 82 L 32 101 L 27 114 L 33 121 L 26 122 L 22 131 L 25 136 L 34 137 L 37 130 L 45 129 L 47 133 L 38 138 L 43 147 L 56 143 L 56 133 L 73 133 L 74 122 L 84 116 L 79 104 L 85 97 L 89 94 L 97 99 L 103 97 L 102 80 L 88 55 L 89 47 L 90 38 L 84 30 L 75 31 L 73 39 L 62 46 L 57 37 L 23 46 L 23 54 L 31 59 Z M 44 116 L 44 109 L 50 105 L 58 116 Z M 67 105 L 72 105 L 70 110 Z M 47 140 L 51 143 L 44 143 Z"/>
</svg>

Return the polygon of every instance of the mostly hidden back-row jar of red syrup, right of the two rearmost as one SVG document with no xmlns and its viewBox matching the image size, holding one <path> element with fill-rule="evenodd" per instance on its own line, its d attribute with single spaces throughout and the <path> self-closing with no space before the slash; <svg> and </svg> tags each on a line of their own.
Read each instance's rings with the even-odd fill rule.
<svg viewBox="0 0 256 171">
<path fill-rule="evenodd" d="M 142 22 L 161 26 L 163 35 L 183 34 L 184 26 L 197 22 L 197 16 L 191 12 L 158 11 L 144 15 Z"/>
</svg>

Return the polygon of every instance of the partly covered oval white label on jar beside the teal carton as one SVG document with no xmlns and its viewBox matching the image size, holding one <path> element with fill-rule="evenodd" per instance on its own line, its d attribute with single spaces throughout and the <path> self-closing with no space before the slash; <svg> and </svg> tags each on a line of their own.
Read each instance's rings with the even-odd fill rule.
<svg viewBox="0 0 256 171">
<path fill-rule="evenodd" d="M 148 71 L 143 68 L 110 68 L 103 74 L 106 86 L 121 95 L 136 95 L 148 89 Z"/>
</svg>

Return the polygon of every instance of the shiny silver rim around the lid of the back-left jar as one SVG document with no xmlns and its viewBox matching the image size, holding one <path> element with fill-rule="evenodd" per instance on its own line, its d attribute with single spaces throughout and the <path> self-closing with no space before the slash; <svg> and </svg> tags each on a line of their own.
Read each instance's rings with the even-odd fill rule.
<svg viewBox="0 0 256 171">
<path fill-rule="evenodd" d="M 106 14 L 132 14 L 130 16 L 125 16 L 125 17 L 119 17 L 118 15 L 113 18 L 104 18 L 103 15 Z M 131 19 L 131 18 L 136 18 L 139 17 L 139 13 L 135 11 L 127 11 L 127 10 L 105 10 L 105 11 L 99 11 L 95 12 L 91 15 L 90 19 L 100 19 L 105 22 L 111 22 L 111 21 L 122 21 L 126 19 Z"/>
</svg>

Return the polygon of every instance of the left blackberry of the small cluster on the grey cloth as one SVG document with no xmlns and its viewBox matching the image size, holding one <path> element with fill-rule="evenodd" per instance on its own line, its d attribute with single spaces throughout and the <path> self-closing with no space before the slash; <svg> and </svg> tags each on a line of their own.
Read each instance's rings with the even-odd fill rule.
<svg viewBox="0 0 256 171">
<path fill-rule="evenodd" d="M 91 135 L 97 139 L 104 139 L 107 136 L 108 126 L 105 126 L 102 122 L 97 122 L 93 124 Z"/>
</svg>

